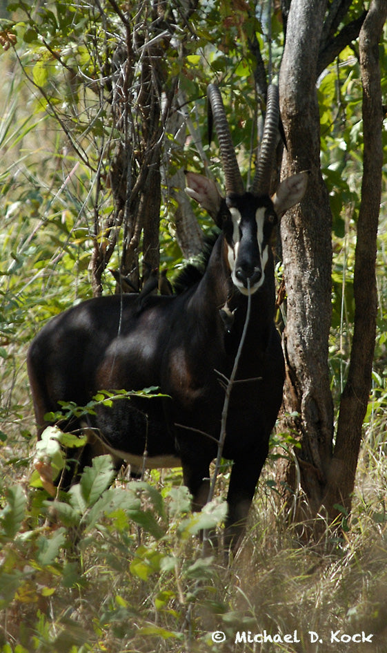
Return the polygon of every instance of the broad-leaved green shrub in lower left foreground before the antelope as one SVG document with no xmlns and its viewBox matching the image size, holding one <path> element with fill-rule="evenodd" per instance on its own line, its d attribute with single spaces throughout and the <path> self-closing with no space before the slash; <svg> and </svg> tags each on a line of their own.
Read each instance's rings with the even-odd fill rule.
<svg viewBox="0 0 387 653">
<path fill-rule="evenodd" d="M 8 491 L 0 515 L 0 609 L 31 606 L 37 611 L 39 621 L 27 638 L 20 627 L 23 645 L 70 652 L 72 647 L 81 651 L 88 642 L 90 650 L 96 650 L 106 637 L 129 641 L 133 617 L 139 624 L 136 634 L 145 641 L 184 640 L 179 626 L 184 605 L 172 605 L 179 603 L 181 583 L 192 600 L 198 592 L 195 583 L 209 582 L 212 558 L 201 558 L 197 547 L 188 557 L 183 551 L 192 548 L 193 533 L 223 520 L 224 504 L 216 501 L 203 515 L 189 515 L 186 488 L 172 488 L 164 499 L 146 482 L 110 487 L 113 474 L 110 456 L 105 456 L 95 459 L 61 500 L 42 502 L 44 491 L 32 490 L 27 504 L 20 486 Z M 46 517 L 43 527 L 37 524 L 37 509 Z M 115 589 L 116 582 L 112 585 L 114 576 L 123 583 L 121 591 Z M 130 585 L 140 594 L 150 591 L 152 600 L 141 605 Z M 92 615 L 90 602 L 97 588 L 106 597 Z M 75 614 L 62 614 L 69 591 L 74 598 L 83 597 L 73 604 L 87 620 L 82 629 Z M 90 612 L 84 612 L 84 601 L 90 603 Z M 55 614 L 53 605 L 58 607 Z M 163 625 L 150 627 L 147 621 L 155 610 Z"/>
</svg>

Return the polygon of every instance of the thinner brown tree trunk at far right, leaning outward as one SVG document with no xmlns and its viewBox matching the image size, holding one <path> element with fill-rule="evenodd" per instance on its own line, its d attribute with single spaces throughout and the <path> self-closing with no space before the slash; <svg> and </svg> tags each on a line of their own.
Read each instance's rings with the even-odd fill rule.
<svg viewBox="0 0 387 653">
<path fill-rule="evenodd" d="M 359 35 L 364 164 L 355 249 L 355 323 L 348 380 L 341 396 L 335 451 L 324 499 L 331 518 L 337 514 L 335 504 L 344 505 L 350 510 L 361 445 L 361 427 L 371 387 L 377 318 L 375 262 L 383 164 L 378 43 L 386 18 L 386 0 L 373 0 Z"/>
</svg>

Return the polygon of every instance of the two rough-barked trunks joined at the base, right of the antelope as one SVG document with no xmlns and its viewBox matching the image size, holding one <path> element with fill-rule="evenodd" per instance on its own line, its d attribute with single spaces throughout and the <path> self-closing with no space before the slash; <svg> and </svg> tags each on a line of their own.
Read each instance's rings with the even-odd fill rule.
<svg viewBox="0 0 387 653">
<path fill-rule="evenodd" d="M 301 449 L 297 450 L 297 458 L 301 486 L 308 498 L 307 516 L 315 517 L 323 509 L 330 520 L 339 514 L 337 504 L 350 509 L 361 426 L 370 392 L 377 311 L 375 255 L 382 164 L 377 44 L 386 20 L 387 3 L 373 0 L 367 15 L 350 23 L 350 29 L 345 32 L 351 37 L 355 34 L 353 30 L 362 25 L 359 49 L 364 88 L 364 172 L 355 250 L 353 349 L 333 451 L 333 401 L 328 373 L 330 208 L 319 170 L 315 82 L 320 72 L 321 52 L 329 48 L 328 36 L 332 36 L 338 26 L 337 16 L 341 19 L 347 8 L 346 0 L 331 3 L 324 23 L 327 3 L 292 0 L 280 73 L 281 116 L 288 143 L 284 173 L 311 170 L 306 197 L 299 207 L 288 211 L 281 223 L 288 292 L 284 407 L 292 413 L 288 417 L 288 428 L 299 433 Z M 287 466 L 284 477 L 287 484 L 294 487 L 294 466 Z M 299 512 L 296 514 L 301 516 Z M 302 516 L 305 517 L 305 513 Z"/>
</svg>

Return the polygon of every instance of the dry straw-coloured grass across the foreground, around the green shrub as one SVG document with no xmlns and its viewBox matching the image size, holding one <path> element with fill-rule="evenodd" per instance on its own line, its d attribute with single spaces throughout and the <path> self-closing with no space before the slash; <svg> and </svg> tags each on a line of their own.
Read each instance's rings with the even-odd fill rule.
<svg viewBox="0 0 387 653">
<path fill-rule="evenodd" d="M 271 473 L 269 467 L 266 475 Z M 178 535 L 183 516 L 169 520 L 163 540 L 143 531 L 140 548 L 133 524 L 102 519 L 77 547 L 67 546 L 46 567 L 37 565 L 34 538 L 22 549 L 20 541 L 13 551 L 7 545 L 9 569 L 12 563 L 12 571 L 26 578 L 3 611 L 0 643 L 11 646 L 3 650 L 23 652 L 16 648 L 20 644 L 28 652 L 51 653 L 385 653 L 387 531 L 380 501 L 385 478 L 382 452 L 371 452 L 365 442 L 350 531 L 341 542 L 327 531 L 319 545 L 300 545 L 296 524 L 281 522 L 277 501 L 262 480 L 248 534 L 230 567 L 217 556 L 200 562 L 197 537 Z M 161 479 L 157 486 L 165 493 L 168 484 L 170 479 Z M 57 527 L 48 528 L 48 538 Z M 143 578 L 132 567 L 141 556 L 159 560 Z M 195 560 L 201 565 L 196 574 L 189 570 Z M 265 630 L 283 640 L 297 631 L 299 642 L 235 643 L 238 632 L 253 638 Z M 215 645 L 214 631 L 224 632 L 226 641 Z M 373 634 L 372 643 L 331 643 L 337 631 L 338 637 Z M 317 632 L 323 643 L 312 643 L 309 632 Z"/>
</svg>

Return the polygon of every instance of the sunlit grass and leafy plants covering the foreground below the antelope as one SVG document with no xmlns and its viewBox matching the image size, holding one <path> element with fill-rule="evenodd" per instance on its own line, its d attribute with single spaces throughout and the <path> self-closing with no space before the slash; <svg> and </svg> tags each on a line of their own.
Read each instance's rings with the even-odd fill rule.
<svg viewBox="0 0 387 653">
<path fill-rule="evenodd" d="M 386 442 L 375 451 L 370 435 L 342 538 L 311 545 L 286 525 L 269 463 L 230 564 L 199 537 L 216 526 L 221 539 L 223 500 L 192 514 L 179 474 L 109 487 L 100 457 L 54 500 L 26 474 L 0 513 L 1 652 L 348 653 L 364 633 L 355 650 L 384 653 Z"/>
</svg>

